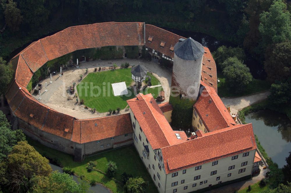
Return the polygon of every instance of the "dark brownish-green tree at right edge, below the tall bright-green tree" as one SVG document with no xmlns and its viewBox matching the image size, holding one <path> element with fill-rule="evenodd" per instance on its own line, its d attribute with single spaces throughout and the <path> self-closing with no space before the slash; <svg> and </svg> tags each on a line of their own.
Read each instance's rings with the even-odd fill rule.
<svg viewBox="0 0 291 193">
<path fill-rule="evenodd" d="M 275 44 L 272 51 L 266 51 L 264 62 L 265 71 L 268 79 L 285 81 L 291 74 L 291 41 Z"/>
</svg>

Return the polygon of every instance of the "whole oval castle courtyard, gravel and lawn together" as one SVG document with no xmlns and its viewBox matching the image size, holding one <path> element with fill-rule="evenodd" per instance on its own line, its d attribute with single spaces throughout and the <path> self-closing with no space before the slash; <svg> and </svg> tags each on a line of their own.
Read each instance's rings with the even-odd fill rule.
<svg viewBox="0 0 291 193">
<path fill-rule="evenodd" d="M 121 108 L 120 114 L 128 113 L 126 111 L 126 100 L 134 97 L 134 94 L 131 96 L 114 96 L 112 93 L 112 83 L 125 82 L 127 86 L 132 84 L 130 67 L 125 69 L 120 69 L 121 64 L 128 62 L 130 67 L 133 65 L 143 65 L 150 73 L 152 77 L 152 85 L 162 85 L 162 87 L 153 87 L 148 88 L 148 90 L 143 90 L 143 94 L 147 91 L 147 93 L 157 94 L 158 90 L 163 89 L 165 92 L 165 100 L 163 102 L 169 101 L 170 96 L 170 86 L 171 86 L 171 77 L 172 71 L 171 69 L 167 69 L 161 65 L 159 65 L 155 60 L 147 61 L 147 60 L 137 60 L 137 59 L 117 59 L 117 60 L 94 60 L 89 62 L 81 62 L 79 63 L 79 68 L 71 68 L 62 70 L 63 76 L 59 76 L 59 72 L 56 75 L 52 74 L 52 83 L 50 82 L 50 77 L 48 76 L 46 79 L 40 81 L 39 83 L 43 85 L 41 90 L 41 99 L 39 100 L 41 103 L 49 106 L 50 108 L 76 117 L 78 119 L 88 119 L 95 117 L 104 117 L 109 116 L 108 110 L 109 108 L 116 109 L 117 107 Z M 118 66 L 116 70 L 109 70 L 109 67 L 116 63 Z M 106 70 L 97 70 L 99 67 L 106 67 Z M 88 73 L 86 74 L 86 68 L 88 68 Z M 98 74 L 99 73 L 99 74 Z M 83 79 L 80 79 L 80 74 L 85 74 Z M 92 75 L 91 75 L 92 74 Z M 92 76 L 92 77 L 91 77 Z M 87 78 L 88 77 L 88 78 Z M 70 86 L 75 82 L 77 85 L 81 81 L 93 82 L 93 85 L 100 84 L 108 81 L 109 89 L 105 90 L 105 94 L 111 92 L 110 97 L 103 97 L 103 93 L 99 97 L 84 97 L 84 105 L 80 105 L 76 102 L 76 98 L 74 98 L 75 94 L 70 94 L 68 92 Z M 92 79 L 92 80 L 89 80 Z M 45 90 L 45 82 L 47 82 L 47 92 Z M 75 87 L 75 93 L 77 93 L 77 86 Z M 90 86 L 90 84 L 89 84 Z M 102 85 L 103 86 L 103 85 Z M 102 87 L 101 87 L 102 88 Z M 129 89 L 132 92 L 132 90 Z M 94 91 L 94 92 L 97 92 Z M 132 92 L 133 93 L 133 92 Z M 78 93 L 79 94 L 79 93 Z M 38 94 L 33 94 L 33 96 L 38 99 Z M 73 100 L 68 100 L 68 97 L 71 97 Z M 84 95 L 80 97 L 82 99 Z M 156 97 L 156 96 L 154 96 Z M 107 101 L 108 100 L 108 101 Z M 80 102 L 80 100 L 79 100 Z M 88 108 L 96 108 L 96 112 L 92 113 Z M 99 109 L 98 109 L 99 108 Z"/>
</svg>

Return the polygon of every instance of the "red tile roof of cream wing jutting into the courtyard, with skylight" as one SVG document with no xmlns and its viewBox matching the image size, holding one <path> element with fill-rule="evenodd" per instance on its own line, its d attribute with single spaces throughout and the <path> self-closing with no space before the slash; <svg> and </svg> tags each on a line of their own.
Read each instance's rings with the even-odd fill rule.
<svg viewBox="0 0 291 193">
<path fill-rule="evenodd" d="M 159 149 L 187 140 L 185 132 L 173 131 L 152 94 L 139 93 L 136 98 L 127 100 L 127 103 L 152 149 Z M 179 133 L 182 139 L 177 139 L 175 133 Z"/>
</svg>

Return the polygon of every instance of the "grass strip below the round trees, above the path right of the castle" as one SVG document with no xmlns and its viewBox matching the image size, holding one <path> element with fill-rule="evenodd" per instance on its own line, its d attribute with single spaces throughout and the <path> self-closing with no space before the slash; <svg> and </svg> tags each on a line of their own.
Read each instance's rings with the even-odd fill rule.
<svg viewBox="0 0 291 193">
<path fill-rule="evenodd" d="M 236 93 L 233 89 L 230 89 L 229 84 L 224 78 L 223 74 L 217 73 L 217 78 L 220 80 L 220 82 L 217 83 L 218 95 L 220 97 L 245 96 L 248 94 L 268 90 L 271 87 L 271 84 L 265 80 L 253 79 L 253 81 L 247 85 L 244 91 Z"/>
</svg>

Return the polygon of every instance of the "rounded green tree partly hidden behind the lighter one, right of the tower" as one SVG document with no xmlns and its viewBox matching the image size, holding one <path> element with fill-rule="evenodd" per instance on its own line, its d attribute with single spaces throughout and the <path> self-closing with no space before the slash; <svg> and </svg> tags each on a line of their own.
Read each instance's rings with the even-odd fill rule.
<svg viewBox="0 0 291 193">
<path fill-rule="evenodd" d="M 222 63 L 229 57 L 236 57 L 241 61 L 244 61 L 246 59 L 244 50 L 239 47 L 233 48 L 231 46 L 230 47 L 221 46 L 216 51 L 213 52 L 213 58 L 221 70 L 224 68 L 221 66 Z"/>
</svg>

